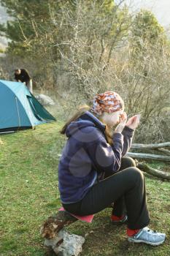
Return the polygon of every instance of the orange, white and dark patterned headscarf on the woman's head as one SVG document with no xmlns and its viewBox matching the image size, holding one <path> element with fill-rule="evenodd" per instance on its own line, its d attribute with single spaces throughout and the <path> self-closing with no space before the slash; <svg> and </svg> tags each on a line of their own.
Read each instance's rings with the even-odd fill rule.
<svg viewBox="0 0 170 256">
<path fill-rule="evenodd" d="M 101 115 L 103 112 L 113 113 L 119 110 L 123 110 L 123 99 L 115 91 L 106 91 L 103 94 L 96 94 L 93 99 L 93 107 L 91 111 L 97 115 Z"/>
</svg>

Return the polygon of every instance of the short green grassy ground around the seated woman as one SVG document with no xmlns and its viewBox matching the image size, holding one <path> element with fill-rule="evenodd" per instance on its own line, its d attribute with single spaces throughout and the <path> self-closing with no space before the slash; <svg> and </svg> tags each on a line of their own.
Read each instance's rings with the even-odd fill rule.
<svg viewBox="0 0 170 256">
<path fill-rule="evenodd" d="M 47 255 L 39 227 L 61 206 L 57 169 L 64 139 L 58 133 L 60 128 L 60 123 L 44 124 L 35 130 L 1 136 L 1 256 Z M 128 244 L 125 225 L 110 225 L 108 208 L 96 214 L 92 224 L 75 222 L 68 227 L 70 232 L 85 236 L 83 256 L 170 255 L 170 183 L 147 176 L 146 186 L 150 227 L 167 234 L 165 244 Z"/>
</svg>

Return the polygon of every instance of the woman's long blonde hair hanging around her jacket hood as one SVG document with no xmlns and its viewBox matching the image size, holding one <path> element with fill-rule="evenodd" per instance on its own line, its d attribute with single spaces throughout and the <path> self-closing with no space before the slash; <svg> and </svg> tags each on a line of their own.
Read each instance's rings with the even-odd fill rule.
<svg viewBox="0 0 170 256">
<path fill-rule="evenodd" d="M 80 118 L 80 116 L 82 116 L 86 111 L 89 111 L 90 107 L 88 105 L 82 105 L 80 106 L 80 108 L 77 110 L 76 113 L 74 113 L 74 116 L 72 116 L 71 118 L 69 118 L 68 121 L 66 121 L 66 124 L 64 124 L 63 128 L 61 129 L 61 134 L 65 135 L 66 133 L 66 128 L 69 126 L 70 123 L 72 123 L 72 121 L 76 121 L 78 118 Z M 94 116 L 95 113 L 93 113 Z M 103 120 L 102 120 L 102 115 L 98 117 L 98 119 L 104 124 Z M 111 146 L 113 145 L 112 142 L 112 132 L 110 131 L 109 127 L 107 126 L 107 124 L 104 124 L 106 126 L 106 129 L 104 131 L 104 134 L 106 136 L 107 139 L 107 143 L 109 143 Z"/>
</svg>

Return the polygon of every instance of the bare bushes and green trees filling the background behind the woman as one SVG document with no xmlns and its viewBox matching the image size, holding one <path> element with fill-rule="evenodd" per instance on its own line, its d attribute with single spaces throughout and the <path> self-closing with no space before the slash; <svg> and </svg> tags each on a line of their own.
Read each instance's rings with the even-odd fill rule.
<svg viewBox="0 0 170 256">
<path fill-rule="evenodd" d="M 64 99 L 66 113 L 90 105 L 96 93 L 115 90 L 128 115 L 142 113 L 136 140 L 169 140 L 169 117 L 160 117 L 170 101 L 170 44 L 151 12 L 133 17 L 123 0 L 1 3 L 13 17 L 2 28 L 11 39 L 4 70 L 28 69 L 34 87 Z"/>
</svg>

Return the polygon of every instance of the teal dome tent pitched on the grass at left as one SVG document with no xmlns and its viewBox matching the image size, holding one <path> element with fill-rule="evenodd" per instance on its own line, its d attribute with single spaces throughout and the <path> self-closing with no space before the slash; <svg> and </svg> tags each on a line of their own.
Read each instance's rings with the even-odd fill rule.
<svg viewBox="0 0 170 256">
<path fill-rule="evenodd" d="M 29 129 L 55 118 L 23 83 L 0 80 L 0 132 Z"/>
</svg>

